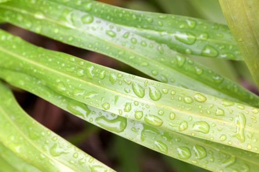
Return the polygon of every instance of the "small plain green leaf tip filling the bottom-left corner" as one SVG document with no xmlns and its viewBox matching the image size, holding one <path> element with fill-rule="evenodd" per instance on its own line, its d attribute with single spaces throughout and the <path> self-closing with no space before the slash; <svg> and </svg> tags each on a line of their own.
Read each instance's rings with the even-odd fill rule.
<svg viewBox="0 0 259 172">
<path fill-rule="evenodd" d="M 9 170 L 3 170 L 3 165 L 0 162 L 0 172 L 42 172 L 18 157 L 2 143 L 0 143 L 0 159 L 2 159 L 2 163 L 4 163 L 5 166 L 9 166 L 7 167 Z"/>
</svg>

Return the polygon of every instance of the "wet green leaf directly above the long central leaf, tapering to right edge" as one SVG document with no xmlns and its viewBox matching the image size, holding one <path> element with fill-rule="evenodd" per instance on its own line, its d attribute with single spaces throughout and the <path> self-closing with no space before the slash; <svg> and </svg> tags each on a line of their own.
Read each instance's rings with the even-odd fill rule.
<svg viewBox="0 0 259 172">
<path fill-rule="evenodd" d="M 233 101 L 237 100 L 232 97 L 239 97 L 238 99 L 244 102 L 254 102 L 249 100 L 251 94 L 245 93 L 246 91 L 236 83 L 176 53 L 164 44 L 132 32 L 125 26 L 111 23 L 98 16 L 93 17 L 91 24 L 84 24 L 81 21 L 83 16 L 92 14 L 72 8 L 72 4 L 70 7 L 57 5 L 56 2 L 50 0 L 38 0 L 35 1 L 36 4 L 30 2 L 29 0 L 16 0 L 0 5 L 0 13 L 3 14 L 0 18 L 56 40 L 111 56 L 163 83 Z M 53 4 L 59 8 L 49 10 L 48 7 Z M 42 11 L 42 9 L 45 10 Z M 150 30 L 150 32 L 153 31 Z M 208 52 L 214 51 L 208 50 Z M 238 95 L 236 89 L 244 93 Z"/>
</svg>

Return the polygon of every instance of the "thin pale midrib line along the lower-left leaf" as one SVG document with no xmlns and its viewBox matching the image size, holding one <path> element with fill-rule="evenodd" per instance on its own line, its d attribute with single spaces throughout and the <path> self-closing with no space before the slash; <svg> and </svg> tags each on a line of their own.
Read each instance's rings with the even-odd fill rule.
<svg viewBox="0 0 259 172">
<path fill-rule="evenodd" d="M 0 112 L 5 116 L 5 118 L 12 124 L 12 126 L 14 128 L 16 128 L 16 130 L 30 143 L 32 144 L 35 148 L 37 148 L 37 150 L 39 150 L 42 154 L 44 154 L 46 157 L 48 157 L 49 159 L 59 163 L 61 166 L 63 166 L 65 169 L 67 169 L 69 172 L 75 172 L 74 170 L 72 170 L 71 168 L 69 168 L 68 166 L 64 165 L 63 163 L 61 163 L 60 161 L 58 161 L 57 159 L 51 157 L 50 155 L 48 155 L 47 153 L 45 153 L 44 151 L 42 151 L 35 143 L 33 143 L 31 141 L 30 138 L 28 138 L 28 136 L 26 136 L 21 130 L 20 128 L 10 119 L 9 115 L 4 111 L 4 109 L 0 106 Z M 4 144 L 4 143 L 3 143 Z M 5 145 L 8 146 L 8 145 Z M 23 158 L 23 157 L 21 157 Z"/>
</svg>

